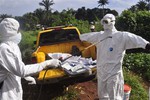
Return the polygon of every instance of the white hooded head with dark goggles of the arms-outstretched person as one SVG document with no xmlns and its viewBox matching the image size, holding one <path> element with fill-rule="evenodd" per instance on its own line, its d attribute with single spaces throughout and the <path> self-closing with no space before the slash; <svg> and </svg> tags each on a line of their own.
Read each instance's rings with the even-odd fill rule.
<svg viewBox="0 0 150 100">
<path fill-rule="evenodd" d="M 106 14 L 101 20 L 104 31 L 117 31 L 115 28 L 115 20 L 116 18 L 113 14 Z"/>
</svg>

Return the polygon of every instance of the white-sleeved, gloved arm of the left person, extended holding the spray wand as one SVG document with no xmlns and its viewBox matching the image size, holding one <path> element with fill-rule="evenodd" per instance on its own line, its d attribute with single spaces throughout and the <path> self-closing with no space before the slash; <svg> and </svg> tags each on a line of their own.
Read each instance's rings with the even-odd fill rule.
<svg viewBox="0 0 150 100">
<path fill-rule="evenodd" d="M 33 75 L 46 67 L 57 67 L 60 65 L 60 61 L 56 59 L 47 60 L 38 64 L 25 65 L 23 61 L 7 47 L 1 48 L 0 57 L 2 59 L 0 64 L 10 73 L 20 77 Z"/>
</svg>

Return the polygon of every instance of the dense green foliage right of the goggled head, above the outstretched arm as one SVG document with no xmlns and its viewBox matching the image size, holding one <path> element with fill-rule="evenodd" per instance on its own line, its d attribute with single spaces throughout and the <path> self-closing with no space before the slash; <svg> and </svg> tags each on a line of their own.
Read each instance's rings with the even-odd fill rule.
<svg viewBox="0 0 150 100">
<path fill-rule="evenodd" d="M 132 13 L 131 11 L 124 11 L 116 22 L 118 30 L 133 32 L 140 35 L 146 40 L 150 41 L 150 12 L 149 11 L 137 11 Z"/>
</svg>

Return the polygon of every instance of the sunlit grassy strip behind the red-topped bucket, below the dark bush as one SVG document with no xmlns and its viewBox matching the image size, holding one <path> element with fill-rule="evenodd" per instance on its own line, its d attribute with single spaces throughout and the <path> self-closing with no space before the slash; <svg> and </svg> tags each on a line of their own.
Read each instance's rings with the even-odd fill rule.
<svg viewBox="0 0 150 100">
<path fill-rule="evenodd" d="M 148 87 L 139 75 L 124 68 L 124 79 L 125 83 L 132 88 L 130 100 L 148 100 Z"/>
</svg>

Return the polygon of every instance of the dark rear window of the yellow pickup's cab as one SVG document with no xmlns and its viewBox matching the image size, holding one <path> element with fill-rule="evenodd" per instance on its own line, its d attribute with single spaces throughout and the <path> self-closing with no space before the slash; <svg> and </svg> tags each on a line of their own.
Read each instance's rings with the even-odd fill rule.
<svg viewBox="0 0 150 100">
<path fill-rule="evenodd" d="M 74 41 L 79 39 L 76 29 L 60 29 L 42 33 L 39 45 L 54 44 L 60 42 Z"/>
</svg>

